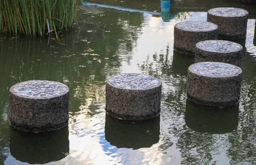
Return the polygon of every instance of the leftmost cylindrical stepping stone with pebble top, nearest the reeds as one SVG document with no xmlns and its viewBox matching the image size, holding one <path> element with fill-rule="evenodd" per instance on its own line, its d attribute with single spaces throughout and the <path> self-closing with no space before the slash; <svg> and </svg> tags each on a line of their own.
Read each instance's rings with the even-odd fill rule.
<svg viewBox="0 0 256 165">
<path fill-rule="evenodd" d="M 68 123 L 69 88 L 55 81 L 24 81 L 10 88 L 10 124 L 29 132 L 52 131 Z"/>
</svg>

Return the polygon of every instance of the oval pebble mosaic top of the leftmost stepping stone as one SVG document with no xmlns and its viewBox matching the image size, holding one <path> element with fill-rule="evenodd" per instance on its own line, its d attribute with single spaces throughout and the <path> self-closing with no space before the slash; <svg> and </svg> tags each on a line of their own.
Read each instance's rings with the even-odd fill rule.
<svg viewBox="0 0 256 165">
<path fill-rule="evenodd" d="M 49 98 L 57 97 L 66 92 L 64 84 L 54 81 L 24 81 L 13 87 L 16 95 L 31 98 Z"/>
</svg>

